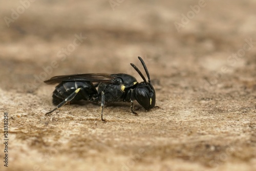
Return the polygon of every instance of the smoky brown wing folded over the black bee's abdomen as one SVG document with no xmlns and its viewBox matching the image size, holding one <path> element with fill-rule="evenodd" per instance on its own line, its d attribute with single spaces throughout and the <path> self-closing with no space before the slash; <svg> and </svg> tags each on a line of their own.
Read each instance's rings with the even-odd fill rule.
<svg viewBox="0 0 256 171">
<path fill-rule="evenodd" d="M 61 81 L 91 81 L 112 83 L 114 78 L 116 77 L 111 74 L 73 74 L 55 76 L 44 82 L 47 84 L 55 84 Z"/>
</svg>

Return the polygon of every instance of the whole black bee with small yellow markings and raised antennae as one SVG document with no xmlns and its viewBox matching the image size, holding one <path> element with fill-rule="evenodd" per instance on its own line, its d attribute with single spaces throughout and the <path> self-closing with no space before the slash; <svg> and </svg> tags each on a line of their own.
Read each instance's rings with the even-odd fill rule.
<svg viewBox="0 0 256 171">
<path fill-rule="evenodd" d="M 74 74 L 61 75 L 46 80 L 47 84 L 59 83 L 53 92 L 53 104 L 57 105 L 52 111 L 46 113 L 49 115 L 56 109 L 68 102 L 78 100 L 90 100 L 100 102 L 101 120 L 103 119 L 103 110 L 105 101 L 131 102 L 131 111 L 134 112 L 134 100 L 146 110 L 155 107 L 156 92 L 150 79 L 150 74 L 146 68 L 145 62 L 138 57 L 146 72 L 148 82 L 140 70 L 131 63 L 131 66 L 139 73 L 143 82 L 138 83 L 136 78 L 128 74 Z M 93 84 L 93 82 L 98 82 Z M 98 87 L 98 91 L 96 88 Z"/>
</svg>

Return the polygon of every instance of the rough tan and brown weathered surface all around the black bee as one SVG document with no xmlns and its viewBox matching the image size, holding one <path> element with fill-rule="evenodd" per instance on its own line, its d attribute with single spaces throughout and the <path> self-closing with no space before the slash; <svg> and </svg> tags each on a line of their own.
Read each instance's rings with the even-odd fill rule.
<svg viewBox="0 0 256 171">
<path fill-rule="evenodd" d="M 9 113 L 0 170 L 256 168 L 255 1 L 113 1 L 114 10 L 109 1 L 23 2 L 24 12 L 18 1 L 0 2 L 0 111 Z M 43 80 L 127 73 L 141 81 L 130 66 L 141 68 L 137 56 L 160 109 L 136 104 L 133 116 L 129 103 L 108 104 L 102 123 L 98 104 L 81 102 L 44 116 L 54 86 Z M 3 117 L 0 128 L 3 142 Z"/>
</svg>

